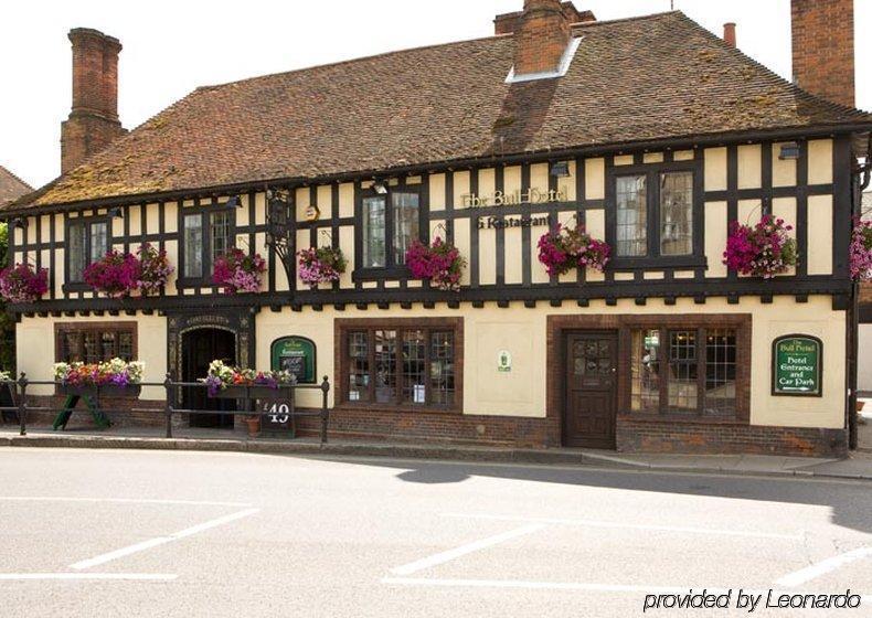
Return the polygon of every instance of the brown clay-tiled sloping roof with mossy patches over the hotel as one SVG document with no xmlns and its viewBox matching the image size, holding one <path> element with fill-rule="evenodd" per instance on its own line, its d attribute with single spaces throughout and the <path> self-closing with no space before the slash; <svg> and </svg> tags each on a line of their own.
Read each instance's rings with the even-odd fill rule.
<svg viewBox="0 0 872 618">
<path fill-rule="evenodd" d="M 578 24 L 557 79 L 506 84 L 511 36 L 199 88 L 15 206 L 592 145 L 872 122 L 680 12 Z"/>
</svg>

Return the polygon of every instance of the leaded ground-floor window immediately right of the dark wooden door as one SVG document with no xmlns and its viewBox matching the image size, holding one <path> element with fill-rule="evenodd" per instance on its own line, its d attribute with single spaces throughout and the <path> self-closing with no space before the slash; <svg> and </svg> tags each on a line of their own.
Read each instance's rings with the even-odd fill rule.
<svg viewBox="0 0 872 618">
<path fill-rule="evenodd" d="M 735 329 L 634 329 L 630 344 L 631 412 L 735 417 Z"/>
</svg>

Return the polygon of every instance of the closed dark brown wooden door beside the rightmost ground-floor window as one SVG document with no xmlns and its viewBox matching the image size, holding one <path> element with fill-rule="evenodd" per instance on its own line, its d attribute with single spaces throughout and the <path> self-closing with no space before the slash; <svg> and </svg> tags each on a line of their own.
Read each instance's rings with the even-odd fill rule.
<svg viewBox="0 0 872 618">
<path fill-rule="evenodd" d="M 616 333 L 565 337 L 564 446 L 615 448 L 617 344 Z"/>
</svg>

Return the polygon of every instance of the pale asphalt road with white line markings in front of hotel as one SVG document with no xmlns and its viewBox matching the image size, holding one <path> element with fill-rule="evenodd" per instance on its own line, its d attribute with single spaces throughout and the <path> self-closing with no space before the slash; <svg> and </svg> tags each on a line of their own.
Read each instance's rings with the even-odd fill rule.
<svg viewBox="0 0 872 618">
<path fill-rule="evenodd" d="M 0 470 L 2 617 L 747 616 L 740 588 L 753 616 L 872 616 L 870 483 L 35 448 Z M 691 588 L 732 609 L 642 612 Z M 848 588 L 857 609 L 765 608 Z"/>
</svg>

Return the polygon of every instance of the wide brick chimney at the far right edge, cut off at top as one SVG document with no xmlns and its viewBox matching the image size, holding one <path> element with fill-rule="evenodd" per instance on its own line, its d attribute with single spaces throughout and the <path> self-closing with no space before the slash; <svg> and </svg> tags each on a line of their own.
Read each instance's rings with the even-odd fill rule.
<svg viewBox="0 0 872 618">
<path fill-rule="evenodd" d="M 854 0 L 791 0 L 794 83 L 854 106 Z"/>
</svg>

